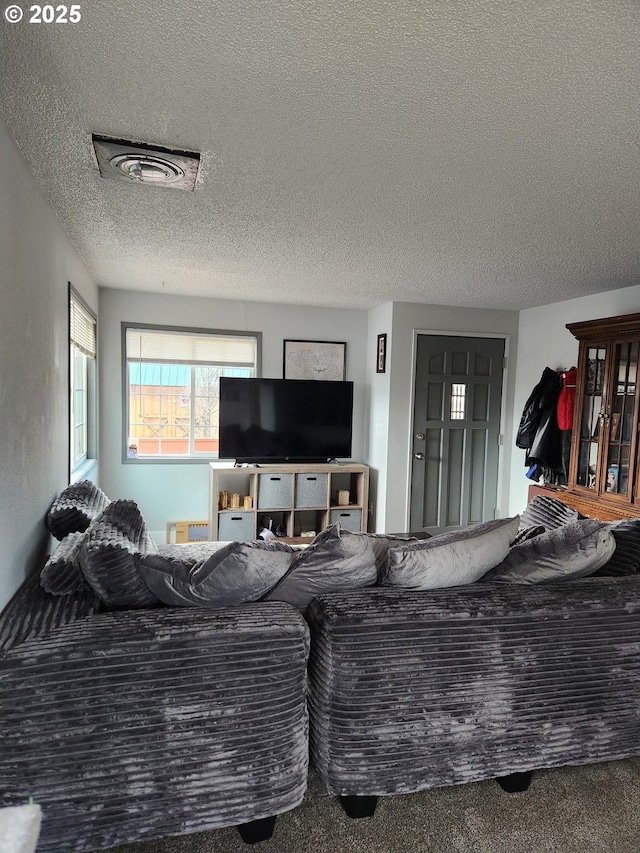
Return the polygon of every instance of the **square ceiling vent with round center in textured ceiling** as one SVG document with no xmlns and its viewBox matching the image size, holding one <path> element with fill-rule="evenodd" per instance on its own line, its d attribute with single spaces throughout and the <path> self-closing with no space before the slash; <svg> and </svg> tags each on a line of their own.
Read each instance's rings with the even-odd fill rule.
<svg viewBox="0 0 640 853">
<path fill-rule="evenodd" d="M 200 166 L 197 151 L 172 151 L 95 134 L 92 139 L 103 178 L 174 190 L 195 189 Z"/>
</svg>

